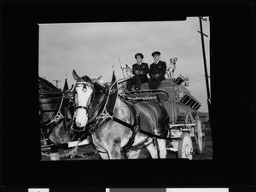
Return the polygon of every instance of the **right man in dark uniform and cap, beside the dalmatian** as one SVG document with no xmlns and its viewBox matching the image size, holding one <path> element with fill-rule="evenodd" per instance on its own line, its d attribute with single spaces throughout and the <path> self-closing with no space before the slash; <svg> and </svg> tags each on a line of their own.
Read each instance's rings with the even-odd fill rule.
<svg viewBox="0 0 256 192">
<path fill-rule="evenodd" d="M 166 79 L 166 62 L 160 61 L 160 52 L 154 51 L 152 53 L 154 63 L 150 65 L 148 76 L 149 90 L 155 90 L 160 86 L 162 80 Z"/>
</svg>

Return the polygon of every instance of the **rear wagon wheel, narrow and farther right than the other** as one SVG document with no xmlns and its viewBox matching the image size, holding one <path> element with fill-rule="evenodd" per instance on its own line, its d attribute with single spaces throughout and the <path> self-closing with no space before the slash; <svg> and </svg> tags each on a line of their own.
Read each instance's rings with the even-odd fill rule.
<svg viewBox="0 0 256 192">
<path fill-rule="evenodd" d="M 201 119 L 198 114 L 195 116 L 195 151 L 201 154 L 203 150 L 203 134 L 201 131 Z"/>
</svg>

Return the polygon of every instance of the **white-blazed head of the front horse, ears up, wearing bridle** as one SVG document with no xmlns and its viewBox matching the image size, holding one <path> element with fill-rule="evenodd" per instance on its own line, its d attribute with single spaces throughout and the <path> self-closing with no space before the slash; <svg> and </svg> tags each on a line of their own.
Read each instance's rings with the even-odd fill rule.
<svg viewBox="0 0 256 192">
<path fill-rule="evenodd" d="M 73 70 L 73 78 L 77 81 L 74 87 L 74 100 L 76 105 L 76 125 L 84 127 L 88 122 L 90 102 L 95 94 L 96 82 L 101 78 L 90 79 L 87 76 L 79 77 Z"/>
</svg>

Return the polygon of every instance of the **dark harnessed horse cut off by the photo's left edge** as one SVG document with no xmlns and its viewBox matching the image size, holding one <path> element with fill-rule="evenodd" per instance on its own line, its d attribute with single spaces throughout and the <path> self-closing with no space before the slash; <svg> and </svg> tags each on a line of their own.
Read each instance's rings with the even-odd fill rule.
<svg viewBox="0 0 256 192">
<path fill-rule="evenodd" d="M 38 85 L 39 124 L 43 141 L 41 144 L 75 141 L 76 132 L 70 128 L 73 119 L 72 102 L 68 98 L 64 98 L 61 95 L 61 90 L 46 79 L 38 77 Z M 66 89 L 63 91 L 68 89 L 67 84 L 65 85 Z"/>
</svg>

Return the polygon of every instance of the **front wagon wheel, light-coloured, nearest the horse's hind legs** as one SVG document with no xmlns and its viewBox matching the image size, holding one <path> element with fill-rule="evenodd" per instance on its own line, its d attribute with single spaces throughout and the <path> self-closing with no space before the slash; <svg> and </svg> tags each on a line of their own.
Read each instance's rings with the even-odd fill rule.
<svg viewBox="0 0 256 192">
<path fill-rule="evenodd" d="M 183 132 L 178 140 L 177 158 L 188 158 L 189 160 L 193 158 L 193 143 L 189 133 Z"/>
</svg>

